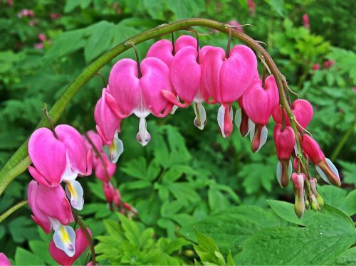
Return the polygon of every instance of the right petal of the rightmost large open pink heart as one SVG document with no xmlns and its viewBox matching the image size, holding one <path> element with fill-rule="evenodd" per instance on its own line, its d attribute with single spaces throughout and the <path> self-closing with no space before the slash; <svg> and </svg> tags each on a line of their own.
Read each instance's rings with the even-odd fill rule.
<svg viewBox="0 0 356 266">
<path fill-rule="evenodd" d="M 247 46 L 234 46 L 221 66 L 220 90 L 222 102 L 235 102 L 255 78 L 257 59 Z"/>
</svg>

